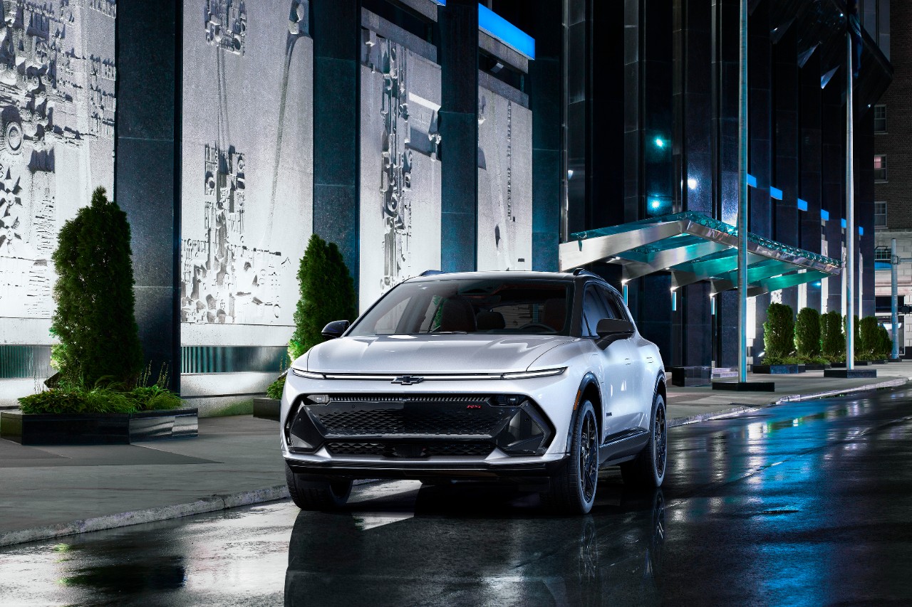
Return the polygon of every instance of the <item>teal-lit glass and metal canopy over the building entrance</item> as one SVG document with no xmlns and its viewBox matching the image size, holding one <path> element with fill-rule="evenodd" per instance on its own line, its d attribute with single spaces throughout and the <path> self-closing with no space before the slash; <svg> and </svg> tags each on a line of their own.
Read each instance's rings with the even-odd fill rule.
<svg viewBox="0 0 912 607">
<path fill-rule="evenodd" d="M 711 293 L 738 285 L 738 228 L 694 211 L 571 234 L 560 245 L 561 270 L 586 263 L 622 266 L 624 283 L 671 273 L 671 288 L 708 281 Z M 842 263 L 748 232 L 748 296 L 812 283 L 842 272 Z"/>
</svg>

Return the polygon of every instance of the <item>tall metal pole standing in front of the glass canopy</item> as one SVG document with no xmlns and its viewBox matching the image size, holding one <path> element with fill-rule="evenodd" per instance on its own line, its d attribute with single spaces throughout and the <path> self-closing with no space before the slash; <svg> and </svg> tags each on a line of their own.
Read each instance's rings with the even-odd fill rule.
<svg viewBox="0 0 912 607">
<path fill-rule="evenodd" d="M 738 77 L 738 381 L 747 381 L 747 0 L 741 0 Z"/>
</svg>

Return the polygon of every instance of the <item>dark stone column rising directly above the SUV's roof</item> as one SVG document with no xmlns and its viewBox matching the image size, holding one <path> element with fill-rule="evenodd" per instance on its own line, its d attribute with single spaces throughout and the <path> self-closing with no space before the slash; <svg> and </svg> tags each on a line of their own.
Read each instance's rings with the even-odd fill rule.
<svg viewBox="0 0 912 607">
<path fill-rule="evenodd" d="M 478 255 L 478 2 L 449 0 L 440 28 L 440 269 L 467 272 Z"/>
</svg>

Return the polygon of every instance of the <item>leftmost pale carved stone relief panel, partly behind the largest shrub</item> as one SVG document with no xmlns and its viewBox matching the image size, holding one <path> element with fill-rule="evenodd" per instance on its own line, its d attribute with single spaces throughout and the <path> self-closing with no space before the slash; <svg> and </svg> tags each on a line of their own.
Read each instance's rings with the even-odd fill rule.
<svg viewBox="0 0 912 607">
<path fill-rule="evenodd" d="M 2 6 L 0 316 L 47 318 L 57 231 L 91 190 L 112 186 L 117 5 Z"/>
</svg>

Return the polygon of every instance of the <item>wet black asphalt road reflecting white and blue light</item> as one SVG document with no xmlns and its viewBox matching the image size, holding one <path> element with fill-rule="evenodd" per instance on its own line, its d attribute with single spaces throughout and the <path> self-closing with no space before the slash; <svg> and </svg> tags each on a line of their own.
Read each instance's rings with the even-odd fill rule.
<svg viewBox="0 0 912 607">
<path fill-rule="evenodd" d="M 912 392 L 669 439 L 663 489 L 606 470 L 586 517 L 378 483 L 336 514 L 278 502 L 2 549 L 0 604 L 912 604 Z"/>
</svg>

